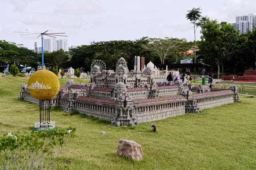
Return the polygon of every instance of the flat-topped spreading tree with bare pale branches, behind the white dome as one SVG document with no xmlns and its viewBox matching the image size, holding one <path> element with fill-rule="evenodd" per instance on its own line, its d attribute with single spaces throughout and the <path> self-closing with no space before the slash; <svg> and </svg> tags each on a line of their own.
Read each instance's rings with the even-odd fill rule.
<svg viewBox="0 0 256 170">
<path fill-rule="evenodd" d="M 186 39 L 178 38 L 149 38 L 148 44 L 143 44 L 142 47 L 148 51 L 152 51 L 160 58 L 161 64 L 164 64 L 165 59 L 171 52 L 177 51 L 178 47 L 186 42 Z"/>
</svg>

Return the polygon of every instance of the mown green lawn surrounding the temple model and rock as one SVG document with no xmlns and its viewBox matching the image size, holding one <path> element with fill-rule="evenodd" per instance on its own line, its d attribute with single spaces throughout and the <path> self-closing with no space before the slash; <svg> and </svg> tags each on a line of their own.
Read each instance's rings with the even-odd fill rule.
<svg viewBox="0 0 256 170">
<path fill-rule="evenodd" d="M 0 135 L 28 132 L 39 120 L 39 106 L 17 100 L 28 79 L 0 78 Z M 60 79 L 61 85 L 67 79 Z M 75 82 L 86 82 L 74 79 Z M 205 109 L 136 127 L 113 127 L 109 122 L 54 110 L 56 127 L 76 127 L 76 137 L 65 146 L 58 169 L 65 170 L 253 170 L 256 169 L 256 98 Z M 157 132 L 149 132 L 151 123 Z M 105 131 L 105 136 L 101 132 Z M 143 161 L 116 155 L 119 139 L 142 145 Z"/>
</svg>

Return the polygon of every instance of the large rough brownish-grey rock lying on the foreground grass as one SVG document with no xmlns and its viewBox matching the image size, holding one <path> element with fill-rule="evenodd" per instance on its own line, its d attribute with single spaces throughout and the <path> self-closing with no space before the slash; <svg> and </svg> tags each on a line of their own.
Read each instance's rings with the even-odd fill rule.
<svg viewBox="0 0 256 170">
<path fill-rule="evenodd" d="M 137 144 L 132 140 L 125 139 L 119 140 L 116 153 L 118 155 L 123 155 L 129 159 L 135 159 L 137 161 L 143 160 L 144 156 L 140 144 Z"/>
</svg>

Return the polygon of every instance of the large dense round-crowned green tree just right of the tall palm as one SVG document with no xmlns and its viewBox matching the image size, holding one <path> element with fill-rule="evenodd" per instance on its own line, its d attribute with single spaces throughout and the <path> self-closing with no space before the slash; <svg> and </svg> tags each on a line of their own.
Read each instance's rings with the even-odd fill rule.
<svg viewBox="0 0 256 170">
<path fill-rule="evenodd" d="M 201 34 L 201 54 L 215 59 L 219 77 L 220 65 L 223 61 L 229 60 L 235 52 L 239 32 L 227 22 L 218 23 L 217 20 L 209 20 L 202 26 Z"/>
</svg>

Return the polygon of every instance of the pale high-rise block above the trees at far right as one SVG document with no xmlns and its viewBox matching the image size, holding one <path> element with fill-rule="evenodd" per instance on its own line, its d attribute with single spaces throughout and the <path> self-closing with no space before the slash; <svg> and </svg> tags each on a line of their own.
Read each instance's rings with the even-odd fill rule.
<svg viewBox="0 0 256 170">
<path fill-rule="evenodd" d="M 240 34 L 247 34 L 248 31 L 253 31 L 256 26 L 256 16 L 254 14 L 236 16 L 236 23 L 231 25 L 240 31 Z"/>
</svg>

